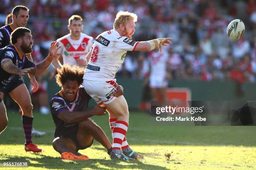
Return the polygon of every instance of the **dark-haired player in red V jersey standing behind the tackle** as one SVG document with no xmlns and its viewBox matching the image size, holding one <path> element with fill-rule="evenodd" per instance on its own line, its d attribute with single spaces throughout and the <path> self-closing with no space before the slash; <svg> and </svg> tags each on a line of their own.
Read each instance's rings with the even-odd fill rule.
<svg viewBox="0 0 256 170">
<path fill-rule="evenodd" d="M 59 61 L 60 57 L 63 59 L 63 64 L 78 65 L 81 68 L 86 67 L 86 56 L 92 47 L 94 39 L 82 33 L 83 28 L 82 18 L 79 15 L 72 15 L 69 18 L 68 29 L 70 33 L 57 40 L 61 48 L 52 62 L 54 67 L 62 67 Z"/>
</svg>

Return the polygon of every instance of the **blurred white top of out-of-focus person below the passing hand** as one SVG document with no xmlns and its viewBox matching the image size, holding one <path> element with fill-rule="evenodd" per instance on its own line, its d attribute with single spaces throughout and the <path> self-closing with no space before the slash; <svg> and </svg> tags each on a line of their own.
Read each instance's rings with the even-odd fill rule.
<svg viewBox="0 0 256 170">
<path fill-rule="evenodd" d="M 150 78 L 165 77 L 167 72 L 168 52 L 151 51 L 148 53 L 150 62 Z"/>
</svg>

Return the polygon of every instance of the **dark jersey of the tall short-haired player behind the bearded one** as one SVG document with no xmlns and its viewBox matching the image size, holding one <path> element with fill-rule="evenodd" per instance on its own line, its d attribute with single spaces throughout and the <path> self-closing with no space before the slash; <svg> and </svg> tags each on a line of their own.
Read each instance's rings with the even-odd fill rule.
<svg viewBox="0 0 256 170">
<path fill-rule="evenodd" d="M 0 48 L 10 45 L 10 35 L 13 32 L 10 25 L 5 25 L 0 28 Z"/>
</svg>

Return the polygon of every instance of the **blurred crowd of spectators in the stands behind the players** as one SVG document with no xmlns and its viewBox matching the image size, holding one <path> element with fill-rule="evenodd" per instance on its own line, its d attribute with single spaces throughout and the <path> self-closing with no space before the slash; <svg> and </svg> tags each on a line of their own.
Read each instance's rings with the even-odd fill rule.
<svg viewBox="0 0 256 170">
<path fill-rule="evenodd" d="M 96 37 L 113 29 L 119 10 L 138 15 L 133 40 L 172 37 L 168 65 L 172 79 L 256 81 L 256 0 L 0 0 L 0 21 L 15 5 L 26 5 L 33 34 L 33 58 L 42 60 L 50 42 L 69 33 L 68 18 L 82 16 L 83 32 Z M 245 23 L 240 40 L 230 40 L 227 25 Z M 144 79 L 148 53 L 127 53 L 118 76 Z M 50 76 L 51 78 L 53 76 Z"/>
</svg>

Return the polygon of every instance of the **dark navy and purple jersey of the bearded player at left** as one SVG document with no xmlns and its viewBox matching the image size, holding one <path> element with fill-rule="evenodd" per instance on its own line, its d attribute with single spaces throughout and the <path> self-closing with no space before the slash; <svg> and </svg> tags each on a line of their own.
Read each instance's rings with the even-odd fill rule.
<svg viewBox="0 0 256 170">
<path fill-rule="evenodd" d="M 13 45 L 7 45 L 0 49 L 0 63 L 4 59 L 12 60 L 13 64 L 20 69 L 35 67 L 35 64 L 29 60 L 26 55 L 20 56 Z M 2 82 L 3 85 L 8 85 L 15 76 L 17 75 L 10 74 L 0 67 L 0 82 Z"/>
</svg>

